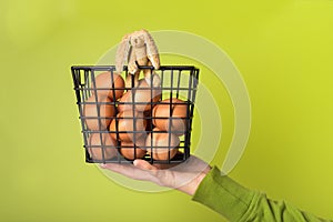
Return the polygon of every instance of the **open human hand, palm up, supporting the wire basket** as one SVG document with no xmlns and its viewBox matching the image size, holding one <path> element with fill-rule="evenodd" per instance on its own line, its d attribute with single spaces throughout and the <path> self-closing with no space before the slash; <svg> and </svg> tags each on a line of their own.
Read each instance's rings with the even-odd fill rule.
<svg viewBox="0 0 333 222">
<path fill-rule="evenodd" d="M 161 186 L 176 189 L 189 195 L 194 194 L 198 185 L 211 170 L 208 163 L 194 155 L 170 168 L 167 164 L 152 165 L 140 159 L 134 160 L 133 164 L 107 163 L 100 167 L 134 180 L 150 181 Z"/>
</svg>

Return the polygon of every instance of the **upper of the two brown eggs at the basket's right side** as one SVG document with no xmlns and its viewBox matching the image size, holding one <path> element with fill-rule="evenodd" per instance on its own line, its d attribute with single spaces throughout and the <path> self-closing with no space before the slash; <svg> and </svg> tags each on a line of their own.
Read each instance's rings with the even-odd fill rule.
<svg viewBox="0 0 333 222">
<path fill-rule="evenodd" d="M 161 130 L 170 131 L 176 135 L 182 135 L 186 130 L 188 104 L 184 101 L 175 98 L 172 98 L 171 101 L 171 113 L 170 99 L 162 100 L 161 104 L 158 104 L 153 108 L 153 124 Z"/>
</svg>

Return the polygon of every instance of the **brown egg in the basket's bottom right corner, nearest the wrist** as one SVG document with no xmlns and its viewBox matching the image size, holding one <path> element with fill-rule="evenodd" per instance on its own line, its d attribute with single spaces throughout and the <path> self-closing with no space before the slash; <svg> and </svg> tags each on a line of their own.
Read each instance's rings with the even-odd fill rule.
<svg viewBox="0 0 333 222">
<path fill-rule="evenodd" d="M 159 128 L 154 128 L 153 132 L 148 134 L 145 140 L 147 151 L 154 160 L 170 160 L 176 154 L 179 138 Z M 169 157 L 170 153 L 170 157 Z"/>
</svg>

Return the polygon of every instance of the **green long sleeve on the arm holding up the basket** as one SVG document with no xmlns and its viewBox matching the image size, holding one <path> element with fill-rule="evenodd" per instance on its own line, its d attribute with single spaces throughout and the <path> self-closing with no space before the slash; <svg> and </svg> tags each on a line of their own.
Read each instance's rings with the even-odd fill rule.
<svg viewBox="0 0 333 222">
<path fill-rule="evenodd" d="M 202 180 L 193 200 L 230 221 L 327 221 L 302 212 L 284 201 L 243 188 L 214 167 Z"/>
</svg>

